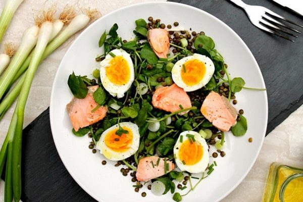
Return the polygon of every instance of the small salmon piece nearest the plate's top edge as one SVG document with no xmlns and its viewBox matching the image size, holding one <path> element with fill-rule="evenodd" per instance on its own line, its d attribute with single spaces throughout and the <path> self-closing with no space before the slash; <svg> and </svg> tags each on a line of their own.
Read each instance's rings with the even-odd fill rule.
<svg viewBox="0 0 303 202">
<path fill-rule="evenodd" d="M 167 58 L 169 53 L 168 32 L 165 29 L 156 28 L 147 31 L 147 40 L 153 51 L 159 58 Z"/>
</svg>

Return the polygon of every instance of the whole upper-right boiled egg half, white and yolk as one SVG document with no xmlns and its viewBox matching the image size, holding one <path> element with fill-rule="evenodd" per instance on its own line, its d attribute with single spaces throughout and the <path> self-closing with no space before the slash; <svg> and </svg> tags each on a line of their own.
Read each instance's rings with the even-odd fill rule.
<svg viewBox="0 0 303 202">
<path fill-rule="evenodd" d="M 172 69 L 173 81 L 186 92 L 205 86 L 215 72 L 213 61 L 207 56 L 193 54 L 177 61 Z"/>
</svg>

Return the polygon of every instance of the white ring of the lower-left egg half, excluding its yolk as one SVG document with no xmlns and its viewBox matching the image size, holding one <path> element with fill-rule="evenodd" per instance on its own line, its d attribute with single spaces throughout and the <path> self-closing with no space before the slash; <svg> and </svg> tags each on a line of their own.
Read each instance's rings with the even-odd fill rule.
<svg viewBox="0 0 303 202">
<path fill-rule="evenodd" d="M 102 133 L 102 135 L 100 136 L 100 139 L 96 145 L 96 148 L 100 150 L 100 154 L 103 154 L 107 159 L 112 160 L 112 161 L 120 161 L 120 160 L 126 159 L 126 158 L 132 156 L 133 154 L 135 154 L 139 148 L 140 134 L 139 134 L 138 126 L 131 122 L 120 123 L 120 126 L 127 127 L 132 131 L 133 139 L 132 139 L 132 143 L 128 150 L 126 150 L 124 152 L 117 152 L 117 151 L 112 150 L 105 144 L 105 137 L 107 136 L 107 134 L 110 131 L 118 129 L 119 128 L 118 124 L 108 128 L 106 131 L 104 131 Z"/>
</svg>

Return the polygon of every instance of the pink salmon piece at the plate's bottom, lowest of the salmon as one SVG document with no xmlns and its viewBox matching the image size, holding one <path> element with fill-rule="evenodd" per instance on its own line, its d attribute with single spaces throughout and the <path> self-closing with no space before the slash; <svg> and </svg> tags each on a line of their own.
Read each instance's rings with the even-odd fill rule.
<svg viewBox="0 0 303 202">
<path fill-rule="evenodd" d="M 158 160 L 159 160 L 159 164 L 157 166 Z M 139 161 L 139 165 L 136 173 L 137 180 L 147 182 L 151 179 L 160 177 L 162 175 L 165 175 L 165 173 L 169 173 L 172 170 L 174 170 L 175 164 L 169 161 L 168 158 L 166 158 L 166 163 L 168 164 L 168 167 L 167 167 L 167 171 L 165 172 L 164 158 L 152 156 L 152 157 L 145 157 L 141 159 Z"/>
</svg>

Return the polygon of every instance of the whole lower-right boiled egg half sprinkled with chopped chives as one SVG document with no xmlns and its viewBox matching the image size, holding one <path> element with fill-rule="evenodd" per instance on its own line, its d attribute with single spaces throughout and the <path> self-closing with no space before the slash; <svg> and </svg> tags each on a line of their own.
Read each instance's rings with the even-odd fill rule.
<svg viewBox="0 0 303 202">
<path fill-rule="evenodd" d="M 183 131 L 175 146 L 175 162 L 181 171 L 204 172 L 209 164 L 208 145 L 195 131 Z"/>
</svg>

